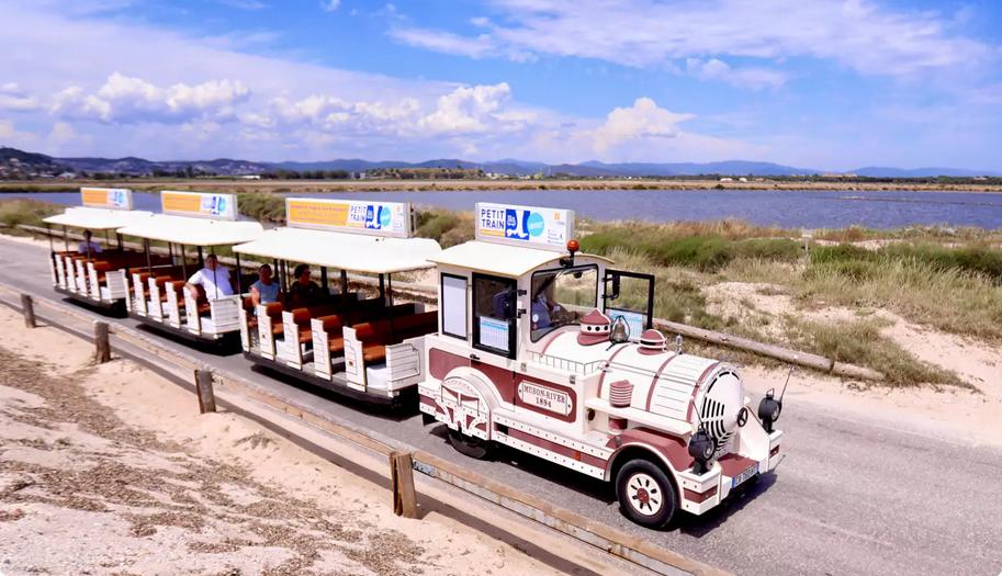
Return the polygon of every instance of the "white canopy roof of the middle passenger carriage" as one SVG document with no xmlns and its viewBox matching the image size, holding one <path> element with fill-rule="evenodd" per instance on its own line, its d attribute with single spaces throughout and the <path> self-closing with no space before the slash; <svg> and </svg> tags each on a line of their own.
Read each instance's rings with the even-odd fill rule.
<svg viewBox="0 0 1002 576">
<path fill-rule="evenodd" d="M 254 240 L 264 228 L 257 222 L 213 221 L 155 214 L 148 219 L 119 228 L 119 234 L 189 246 L 227 246 Z"/>
</svg>

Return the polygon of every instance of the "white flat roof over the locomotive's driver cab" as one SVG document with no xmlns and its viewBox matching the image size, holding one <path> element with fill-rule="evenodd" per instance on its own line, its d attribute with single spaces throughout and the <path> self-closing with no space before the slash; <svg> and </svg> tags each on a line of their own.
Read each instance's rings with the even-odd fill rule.
<svg viewBox="0 0 1002 576">
<path fill-rule="evenodd" d="M 477 272 L 487 272 L 503 276 L 519 278 L 530 270 L 547 263 L 556 263 L 565 253 L 552 250 L 540 250 L 521 246 L 484 242 L 473 240 L 442 250 L 438 256 L 429 258 L 437 264 L 466 268 Z M 594 260 L 612 261 L 594 255 L 587 256 Z"/>
</svg>

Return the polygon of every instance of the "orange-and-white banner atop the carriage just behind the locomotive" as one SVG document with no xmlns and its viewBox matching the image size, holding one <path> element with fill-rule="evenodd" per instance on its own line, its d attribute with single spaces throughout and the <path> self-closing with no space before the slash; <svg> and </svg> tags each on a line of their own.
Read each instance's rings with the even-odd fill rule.
<svg viewBox="0 0 1002 576">
<path fill-rule="evenodd" d="M 410 203 L 290 197 L 285 222 L 295 228 L 408 238 Z"/>
</svg>

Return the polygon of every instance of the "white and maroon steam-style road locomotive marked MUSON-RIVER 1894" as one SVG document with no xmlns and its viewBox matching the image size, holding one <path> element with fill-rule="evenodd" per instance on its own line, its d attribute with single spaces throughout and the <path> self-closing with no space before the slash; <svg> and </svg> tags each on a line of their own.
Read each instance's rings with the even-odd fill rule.
<svg viewBox="0 0 1002 576">
<path fill-rule="evenodd" d="M 652 328 L 653 276 L 579 253 L 571 211 L 480 203 L 475 226 L 431 257 L 440 330 L 418 384 L 457 450 L 505 444 L 610 482 L 648 527 L 775 468 L 783 432 L 751 417 L 738 368 Z"/>
</svg>

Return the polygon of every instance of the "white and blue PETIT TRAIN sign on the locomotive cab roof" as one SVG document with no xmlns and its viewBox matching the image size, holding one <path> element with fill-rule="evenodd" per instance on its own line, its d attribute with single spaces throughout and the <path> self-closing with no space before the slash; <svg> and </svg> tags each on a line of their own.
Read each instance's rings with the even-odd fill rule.
<svg viewBox="0 0 1002 576">
<path fill-rule="evenodd" d="M 574 211 L 476 203 L 476 239 L 565 251 L 574 236 Z"/>
</svg>

